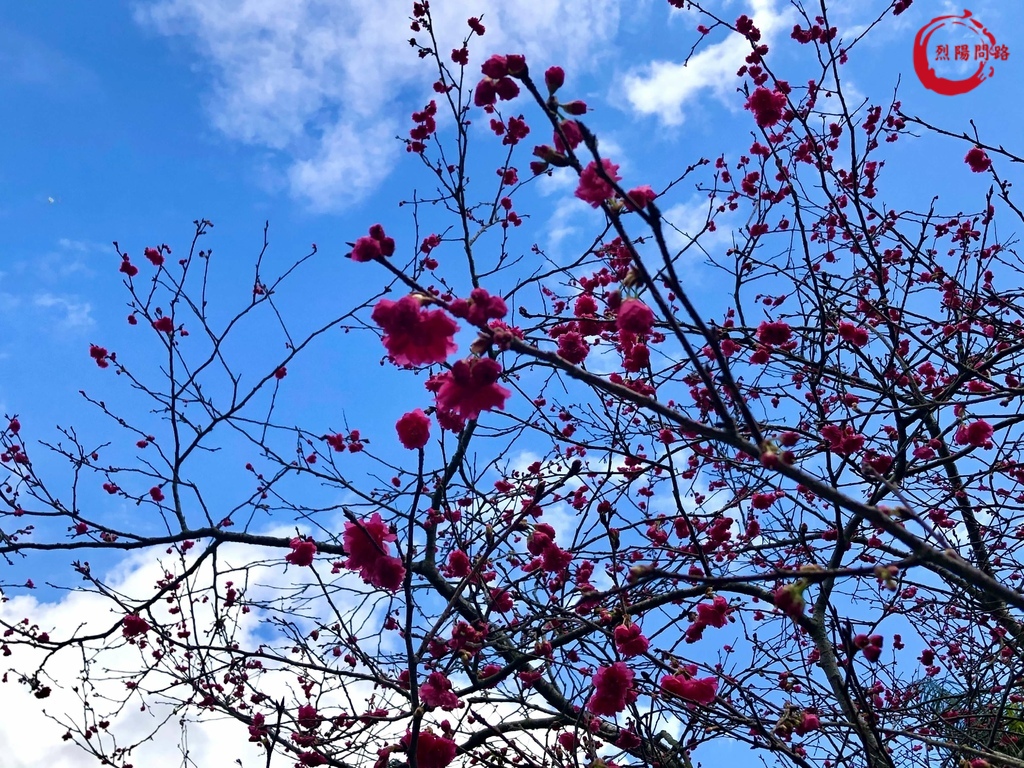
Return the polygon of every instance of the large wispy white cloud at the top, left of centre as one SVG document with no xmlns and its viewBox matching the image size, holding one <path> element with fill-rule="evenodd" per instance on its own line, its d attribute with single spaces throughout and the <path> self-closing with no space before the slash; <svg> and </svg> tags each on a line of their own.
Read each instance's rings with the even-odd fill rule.
<svg viewBox="0 0 1024 768">
<path fill-rule="evenodd" d="M 156 0 L 136 18 L 186 37 L 213 73 L 205 94 L 227 137 L 276 151 L 291 194 L 336 210 L 374 188 L 402 156 L 409 126 L 394 115 L 422 108 L 436 78 L 409 45 L 412 3 L 370 0 Z M 483 57 L 521 50 L 542 67 L 592 67 L 617 30 L 615 0 L 580 13 L 570 0 L 451 0 L 432 12 L 442 51 L 461 44 L 466 19 L 487 32 L 471 48 L 469 79 Z M 419 36 L 426 39 L 425 35 Z M 413 93 L 415 92 L 415 96 Z"/>
</svg>

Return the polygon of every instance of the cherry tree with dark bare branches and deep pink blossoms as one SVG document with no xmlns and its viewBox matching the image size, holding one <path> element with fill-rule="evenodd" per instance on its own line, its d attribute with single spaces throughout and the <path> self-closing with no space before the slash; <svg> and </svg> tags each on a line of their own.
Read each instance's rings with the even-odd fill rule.
<svg viewBox="0 0 1024 768">
<path fill-rule="evenodd" d="M 694 51 L 749 47 L 741 157 L 629 178 L 571 72 L 487 57 L 485 18 L 442 49 L 422 2 L 435 82 L 404 141 L 436 194 L 399 209 L 414 241 L 368 222 L 347 258 L 314 247 L 276 276 L 261 253 L 233 314 L 210 222 L 173 255 L 118 250 L 137 349 L 87 351 L 144 406 L 83 392 L 109 434 L 53 439 L 28 413 L 0 434 L 4 555 L 49 558 L 37 581 L 102 606 L 2 614 L 5 680 L 77 701 L 47 709 L 67 739 L 140 764 L 153 736 L 118 726 L 141 708 L 154 733 L 227 719 L 267 765 L 690 768 L 716 744 L 801 768 L 1024 765 L 1024 270 L 995 228 L 1024 220 L 1001 175 L 1021 159 L 946 131 L 988 194 L 897 210 L 887 157 L 942 131 L 847 98 L 861 38 L 797 6 L 784 44 L 810 63 L 788 83 L 755 20 L 685 4 Z M 601 216 L 570 259 L 519 245 L 517 201 L 554 174 Z M 684 188 L 707 215 L 680 233 Z M 706 247 L 726 219 L 730 244 Z M 324 258 L 366 295 L 286 316 Z M 234 344 L 250 325 L 280 345 Z M 342 332 L 409 387 L 393 432 L 290 418 L 289 372 Z"/>
</svg>

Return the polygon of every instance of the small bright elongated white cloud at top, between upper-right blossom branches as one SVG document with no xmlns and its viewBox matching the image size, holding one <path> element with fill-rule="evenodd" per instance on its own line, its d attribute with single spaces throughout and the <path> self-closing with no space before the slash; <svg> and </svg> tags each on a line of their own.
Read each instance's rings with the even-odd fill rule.
<svg viewBox="0 0 1024 768">
<path fill-rule="evenodd" d="M 779 31 L 793 24 L 791 8 L 779 9 L 777 0 L 751 0 L 750 12 L 768 45 Z M 751 52 L 751 44 L 736 34 L 702 48 L 688 62 L 652 61 L 624 79 L 626 97 L 641 115 L 655 115 L 666 125 L 680 125 L 684 108 L 711 91 L 726 100 L 736 90 L 736 70 Z M 732 103 L 734 99 L 729 99 Z"/>
</svg>

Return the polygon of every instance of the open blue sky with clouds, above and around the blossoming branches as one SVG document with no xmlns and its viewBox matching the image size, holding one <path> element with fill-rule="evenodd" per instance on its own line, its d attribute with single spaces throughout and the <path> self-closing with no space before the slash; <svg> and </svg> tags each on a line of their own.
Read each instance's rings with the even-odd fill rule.
<svg viewBox="0 0 1024 768">
<path fill-rule="evenodd" d="M 883 7 L 835 5 L 831 22 L 844 37 Z M 973 119 L 986 142 L 1013 148 L 1024 101 L 1017 8 L 994 1 L 970 8 L 1010 47 L 992 80 L 956 97 L 921 86 L 911 63 L 914 33 L 963 6 L 919 0 L 854 51 L 845 73 L 848 94 L 885 104 L 898 87 L 907 113 L 957 132 L 971 130 Z M 715 9 L 729 19 L 754 14 L 773 55 L 778 48 L 782 75 L 792 72 L 802 82 L 800 56 L 808 49 L 788 39 L 795 17 L 785 3 L 744 0 Z M 214 295 L 226 311 L 248 300 L 269 220 L 272 267 L 286 268 L 312 243 L 319 251 L 282 297 L 300 326 L 377 290 L 382 275 L 344 259 L 346 242 L 380 221 L 411 254 L 417 245 L 411 216 L 397 203 L 414 189 L 430 189 L 419 163 L 394 139 L 433 95 L 430 69 L 404 42 L 409 11 L 392 0 L 0 4 L 0 412 L 18 414 L 33 438 L 52 439 L 57 424 L 102 435 L 104 423 L 77 392 L 110 396 L 123 388 L 89 358 L 89 344 L 133 352 L 138 346 L 132 336 L 138 329 L 125 322 L 127 297 L 112 241 L 144 269 L 145 246 L 167 243 L 175 255 L 183 253 L 190 222 L 211 219 L 215 228 L 204 247 L 214 249 Z M 743 53 L 735 41 L 713 35 L 682 68 L 698 37 L 696 23 L 664 0 L 441 0 L 435 25 L 442 49 L 455 47 L 468 16 L 481 14 L 487 34 L 472 48 L 472 78 L 493 52 L 523 51 L 535 72 L 563 66 L 565 91 L 591 105 L 588 124 L 622 164 L 627 186 L 659 188 L 700 156 L 735 159 L 750 145 L 753 121 L 734 76 Z M 475 117 L 478 143 L 486 143 L 479 141 L 485 120 L 478 111 Z M 542 140 L 527 139 L 516 163 L 523 175 L 528 146 Z M 933 137 L 900 140 L 886 153 L 889 202 L 921 209 L 940 195 L 947 212 L 976 210 L 986 182 L 967 172 L 964 152 L 962 143 Z M 572 186 L 566 175 L 556 176 L 517 203 L 531 216 L 514 233 L 521 252 L 538 243 L 557 259 L 586 247 L 600 218 L 572 198 Z M 684 228 L 697 220 L 698 194 L 684 187 L 674 200 L 670 218 Z M 727 228 L 718 237 L 727 244 Z M 690 280 L 697 288 L 714 286 L 698 264 Z M 284 354 L 276 343 L 246 329 L 240 351 L 259 347 L 266 354 L 260 361 L 269 365 Z M 297 420 L 323 422 L 325 431 L 352 422 L 390 437 L 397 416 L 426 404 L 410 404 L 422 399 L 419 383 L 371 375 L 380 371 L 381 351 L 361 343 L 332 337 L 290 369 L 290 386 L 303 392 L 295 400 Z M 155 361 L 137 354 L 139 365 Z M 100 565 L 126 581 L 151 575 L 144 563 Z M 60 567 L 67 566 L 45 565 Z M 16 573 L 3 582 L 18 583 Z M 57 594 L 38 599 L 52 615 L 89 610 Z M 92 765 L 52 738 L 28 744 L 18 738 L 38 720 L 22 695 L 18 688 L 0 699 L 5 765 Z M 230 764 L 236 753 L 219 752 L 217 743 L 194 744 L 199 765 Z"/>
</svg>

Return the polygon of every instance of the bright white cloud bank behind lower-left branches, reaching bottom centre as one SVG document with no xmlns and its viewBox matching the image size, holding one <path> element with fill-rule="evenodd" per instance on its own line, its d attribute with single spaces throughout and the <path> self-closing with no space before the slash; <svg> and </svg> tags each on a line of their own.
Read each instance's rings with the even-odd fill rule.
<svg viewBox="0 0 1024 768">
<path fill-rule="evenodd" d="M 538 459 L 529 454 L 520 454 L 513 464 L 525 470 L 525 467 L 534 461 Z M 558 506 L 563 507 L 563 505 Z M 545 519 L 549 516 L 555 521 L 559 536 L 567 541 L 574 529 L 575 518 L 563 509 L 549 510 Z M 338 521 L 338 525 L 340 524 Z M 280 526 L 261 532 L 287 537 L 288 527 Z M 221 589 L 227 579 L 236 579 L 237 584 L 245 583 L 247 585 L 245 599 L 256 603 L 265 601 L 281 605 L 289 601 L 287 595 L 295 595 L 296 610 L 289 612 L 288 618 L 296 622 L 302 632 L 311 629 L 311 624 L 299 617 L 299 613 L 303 612 L 308 617 L 310 612 L 323 610 L 325 613 L 321 616 L 321 623 L 331 624 L 338 621 L 339 616 L 343 616 L 353 634 L 365 636 L 367 643 L 365 647 L 368 650 L 371 644 L 376 642 L 380 643 L 381 652 L 389 653 L 403 648 L 397 635 L 384 633 L 379 637 L 373 636 L 369 628 L 381 626 L 385 604 L 365 599 L 368 589 L 356 574 L 344 571 L 337 581 L 328 578 L 332 585 L 340 589 L 332 589 L 332 605 L 321 599 L 316 601 L 314 607 L 305 604 L 304 597 L 299 597 L 300 594 L 307 594 L 301 592 L 303 586 L 313 582 L 311 571 L 295 567 L 286 569 L 282 562 L 283 557 L 281 549 L 225 545 L 218 552 L 218 583 Z M 187 562 L 190 565 L 195 560 L 189 558 Z M 326 565 L 319 561 L 318 564 Z M 240 570 L 232 572 L 232 569 L 243 568 L 249 569 L 247 573 L 243 574 Z M 172 560 L 170 569 L 175 572 L 180 571 L 181 564 L 174 564 Z M 319 572 L 326 577 L 328 570 L 327 567 L 321 567 Z M 55 577 L 51 574 L 51 578 Z M 153 595 L 154 585 L 165 578 L 164 565 L 158 562 L 154 553 L 140 552 L 124 558 L 103 574 L 102 581 L 109 588 L 106 595 L 73 590 L 62 593 L 59 599 L 47 602 L 37 597 L 40 593 L 12 594 L 10 599 L 0 601 L 0 621 L 5 625 L 12 625 L 28 616 L 30 622 L 37 624 L 41 630 L 48 631 L 54 640 L 62 640 L 72 633 L 79 637 L 87 634 L 99 635 L 111 628 L 116 628 L 123 613 L 123 609 L 119 609 L 109 595 L 118 595 L 127 606 L 138 605 Z M 210 560 L 207 560 L 206 566 L 199 569 L 190 580 L 193 589 L 188 592 L 194 597 L 200 597 L 202 590 L 210 584 L 212 578 Z M 199 628 L 199 632 L 202 633 L 205 631 L 203 628 L 211 627 L 213 624 L 211 604 L 202 599 L 194 599 L 191 605 L 193 615 L 186 616 L 187 624 Z M 173 622 L 177 621 L 168 612 L 171 606 L 163 601 L 158 601 L 151 608 L 161 625 L 168 629 L 171 629 Z M 334 613 L 335 608 L 337 614 Z M 230 620 L 238 621 L 232 639 L 243 649 L 260 646 L 264 651 L 272 652 L 274 646 L 282 645 L 282 636 L 274 630 L 268 631 L 268 625 L 261 623 L 266 617 L 267 614 L 260 615 L 259 608 L 249 613 L 236 614 Z M 171 631 L 173 632 L 173 629 Z M 367 632 L 371 634 L 367 635 Z M 152 638 L 152 632 L 150 636 Z M 285 657 L 289 655 L 288 648 L 291 645 L 291 642 L 284 642 L 281 650 Z M 173 687 L 172 678 L 159 670 L 144 679 L 146 689 L 159 691 L 146 694 L 144 710 L 140 708 L 141 699 L 138 696 L 132 696 L 126 706 L 120 707 L 118 702 L 124 699 L 126 690 L 124 676 L 146 665 L 152 647 L 143 651 L 125 643 L 116 629 L 111 639 L 98 639 L 88 643 L 87 647 L 89 648 L 87 655 L 90 657 L 88 679 L 93 686 L 89 689 L 91 695 L 89 703 L 92 709 L 88 712 L 83 709 L 78 694 L 72 689 L 73 686 L 78 686 L 80 690 L 85 689 L 82 686 L 83 654 L 69 650 L 46 660 L 45 675 L 40 677 L 40 682 L 51 687 L 52 691 L 43 700 L 35 698 L 32 691 L 19 684 L 17 679 L 20 675 L 35 673 L 43 660 L 44 653 L 18 645 L 10 657 L 4 658 L 5 669 L 10 668 L 10 682 L 2 689 L 4 695 L 0 698 L 0 750 L 3 751 L 0 754 L 3 755 L 5 768 L 30 768 L 39 765 L 52 768 L 91 768 L 97 765 L 95 759 L 81 748 L 61 739 L 67 726 L 58 725 L 48 719 L 42 712 L 44 709 L 61 718 L 65 723 L 81 723 L 83 717 L 93 715 L 97 721 L 106 717 L 111 721 L 109 731 L 95 734 L 92 743 L 101 743 L 109 750 L 114 743 L 109 734 L 116 734 L 121 745 L 140 741 L 138 749 L 131 754 L 130 762 L 135 765 L 187 764 L 230 767 L 241 761 L 243 766 L 249 768 L 268 764 L 262 750 L 247 741 L 245 726 L 233 719 L 200 713 L 197 708 L 191 707 L 185 713 L 186 731 L 181 723 L 181 715 L 175 715 L 169 721 L 162 722 L 169 709 L 168 705 L 161 703 L 161 700 L 176 696 L 187 697 L 190 691 L 181 691 Z M 140 660 L 140 654 L 146 660 Z M 203 664 L 208 669 L 216 668 L 224 660 L 215 648 L 211 648 L 204 655 L 206 659 Z M 325 658 L 330 663 L 330 654 L 325 654 Z M 179 656 L 174 660 L 178 663 L 181 658 Z M 271 669 L 269 662 L 264 659 L 263 663 L 268 671 L 261 674 L 258 683 L 255 684 L 261 693 L 270 697 L 264 712 L 272 709 L 274 701 L 284 701 L 288 711 L 294 713 L 293 708 L 297 700 L 304 700 L 296 688 L 297 669 Z M 356 673 L 366 671 L 361 668 L 357 669 Z M 452 679 L 457 687 L 465 682 L 464 677 L 458 673 L 453 674 Z M 252 680 L 255 680 L 255 677 Z M 387 706 L 386 693 L 382 693 L 375 683 L 344 675 L 325 676 L 323 685 L 317 686 L 315 691 L 314 702 L 326 717 L 340 711 L 361 712 L 371 699 L 376 701 L 376 706 Z M 488 722 L 535 714 L 513 701 L 474 705 L 473 712 Z M 447 717 L 450 716 L 444 713 L 435 712 L 428 716 L 426 722 L 436 727 L 440 719 Z M 372 755 L 382 741 L 397 740 L 407 725 L 407 721 L 398 719 L 373 731 L 367 729 L 362 732 L 365 740 L 362 742 L 356 740 L 355 748 L 366 749 L 365 755 Z M 466 727 L 465 722 L 459 725 L 460 729 Z M 32 737 L 27 738 L 26 734 L 32 734 Z M 551 735 L 545 733 L 544 737 Z M 187 760 L 183 759 L 185 750 Z M 281 765 L 291 765 L 294 762 L 280 756 L 270 762 L 279 765 L 279 761 Z M 372 758 L 351 761 L 353 765 L 370 765 L 370 762 Z"/>
</svg>

